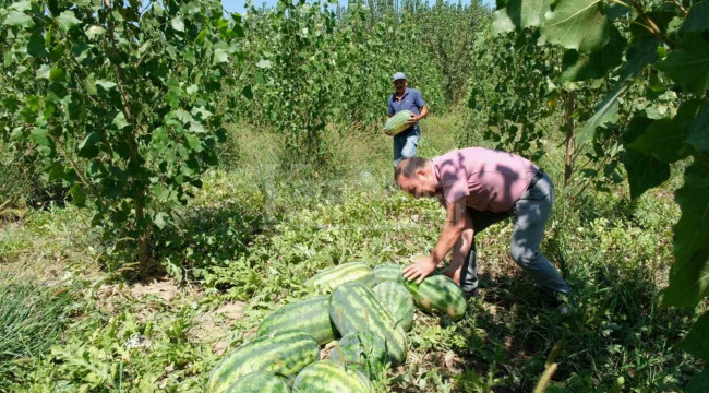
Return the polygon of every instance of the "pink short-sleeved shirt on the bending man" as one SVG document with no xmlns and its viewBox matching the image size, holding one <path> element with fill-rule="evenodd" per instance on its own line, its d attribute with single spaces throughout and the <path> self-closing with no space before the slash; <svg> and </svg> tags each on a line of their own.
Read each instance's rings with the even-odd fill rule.
<svg viewBox="0 0 709 393">
<path fill-rule="evenodd" d="M 450 151 L 431 159 L 442 204 L 466 199 L 478 211 L 508 212 L 539 168 L 520 156 L 484 147 Z"/>
</svg>

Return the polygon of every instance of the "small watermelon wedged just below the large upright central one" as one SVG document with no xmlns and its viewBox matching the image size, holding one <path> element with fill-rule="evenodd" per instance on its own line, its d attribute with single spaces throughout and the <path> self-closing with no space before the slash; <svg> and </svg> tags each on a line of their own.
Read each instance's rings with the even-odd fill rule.
<svg viewBox="0 0 709 393">
<path fill-rule="evenodd" d="M 329 353 L 329 359 L 360 371 L 371 380 L 382 378 L 389 361 L 384 338 L 371 331 L 345 335 Z"/>
</svg>

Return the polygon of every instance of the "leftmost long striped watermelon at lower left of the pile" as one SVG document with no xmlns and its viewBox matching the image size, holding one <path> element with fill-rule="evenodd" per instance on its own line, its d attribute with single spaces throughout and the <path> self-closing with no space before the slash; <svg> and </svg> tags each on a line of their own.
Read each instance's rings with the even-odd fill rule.
<svg viewBox="0 0 709 393">
<path fill-rule="evenodd" d="M 285 331 L 259 337 L 227 355 L 212 370 L 208 391 L 225 392 L 239 378 L 265 371 L 278 376 L 295 376 L 320 358 L 320 347 L 312 335 Z"/>
</svg>

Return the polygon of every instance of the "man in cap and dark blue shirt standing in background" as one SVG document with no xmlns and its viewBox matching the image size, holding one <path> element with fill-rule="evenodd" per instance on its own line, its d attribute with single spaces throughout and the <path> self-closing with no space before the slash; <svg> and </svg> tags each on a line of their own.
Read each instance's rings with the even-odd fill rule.
<svg viewBox="0 0 709 393">
<path fill-rule="evenodd" d="M 392 83 L 396 92 L 389 96 L 388 117 L 390 118 L 401 110 L 410 110 L 413 114 L 408 121 L 410 127 L 394 135 L 394 167 L 396 168 L 402 158 L 416 157 L 416 148 L 419 145 L 419 138 L 421 138 L 419 120 L 429 115 L 429 108 L 425 106 L 421 92 L 406 86 L 404 72 L 395 73 L 392 76 Z"/>
</svg>

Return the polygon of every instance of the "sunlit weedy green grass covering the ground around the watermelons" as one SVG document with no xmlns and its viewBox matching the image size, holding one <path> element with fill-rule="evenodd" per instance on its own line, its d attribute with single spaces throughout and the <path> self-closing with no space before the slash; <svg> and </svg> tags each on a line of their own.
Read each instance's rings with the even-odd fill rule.
<svg viewBox="0 0 709 393">
<path fill-rule="evenodd" d="M 455 147 L 461 124 L 425 120 L 420 155 Z M 443 211 L 394 189 L 387 136 L 328 129 L 332 165 L 320 174 L 279 162 L 278 135 L 235 126 L 231 136 L 224 167 L 205 178 L 179 227 L 156 238 L 156 258 L 177 282 L 121 281 L 100 264 L 87 213 L 70 206 L 27 211 L 0 229 L 0 269 L 39 259 L 53 263 L 39 276 L 75 288 L 53 345 L 0 377 L 10 390 L 201 392 L 221 354 L 304 296 L 317 271 L 405 264 L 434 246 Z M 558 179 L 551 164 L 563 155 L 550 146 L 542 164 Z M 673 345 L 696 315 L 658 308 L 678 216 L 666 194 L 677 186 L 634 203 L 623 189 L 557 201 L 543 249 L 580 294 L 568 315 L 550 310 L 509 259 L 510 226 L 489 228 L 478 239 L 483 288 L 470 318 L 452 324 L 417 312 L 409 357 L 377 391 L 528 392 L 552 353 L 548 392 L 681 391 L 701 365 Z"/>
</svg>

